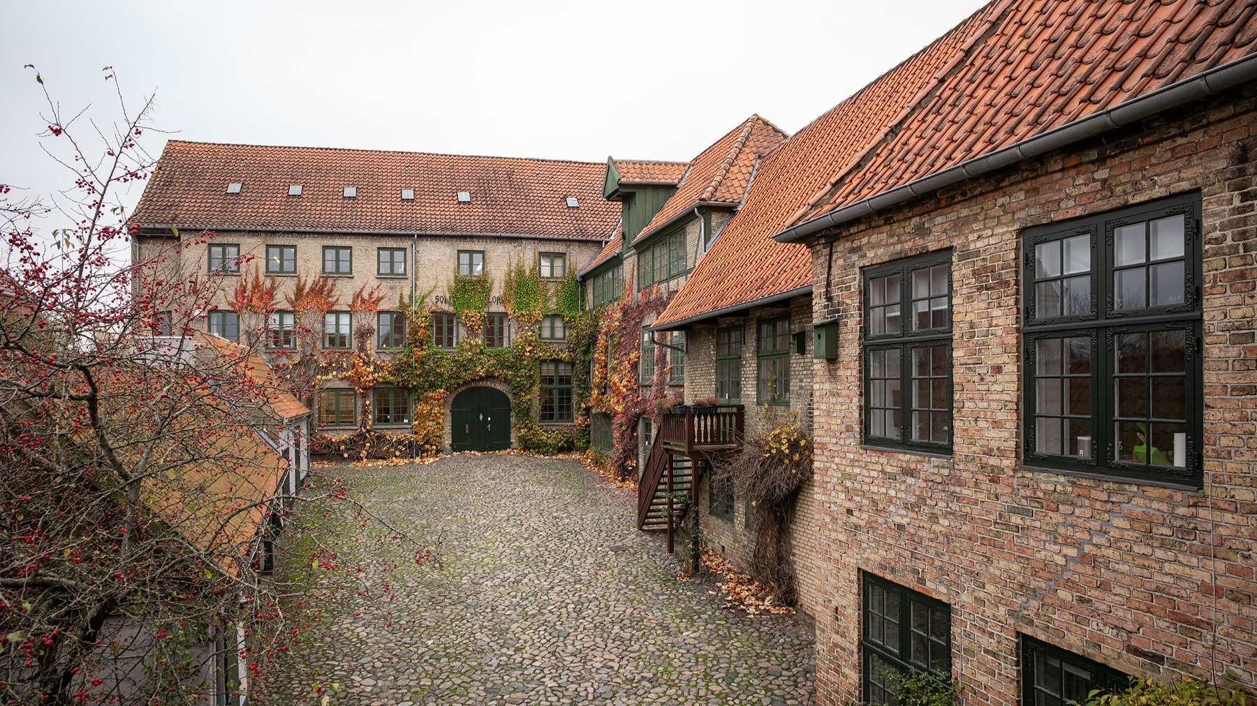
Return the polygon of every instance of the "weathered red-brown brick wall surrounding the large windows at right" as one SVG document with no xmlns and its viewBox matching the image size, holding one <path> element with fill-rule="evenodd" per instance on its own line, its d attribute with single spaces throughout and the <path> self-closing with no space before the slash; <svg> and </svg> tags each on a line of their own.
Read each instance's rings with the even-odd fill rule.
<svg viewBox="0 0 1257 706">
<path fill-rule="evenodd" d="M 840 322 L 838 359 L 815 369 L 820 565 L 807 575 L 821 603 L 821 703 L 861 696 L 861 570 L 952 607 L 965 703 L 1019 702 L 1018 633 L 1131 675 L 1257 681 L 1254 94 L 1217 97 L 812 241 L 815 315 Z M 1194 190 L 1203 490 L 1023 466 L 1021 232 Z M 947 247 L 953 453 L 865 447 L 861 268 Z"/>
</svg>

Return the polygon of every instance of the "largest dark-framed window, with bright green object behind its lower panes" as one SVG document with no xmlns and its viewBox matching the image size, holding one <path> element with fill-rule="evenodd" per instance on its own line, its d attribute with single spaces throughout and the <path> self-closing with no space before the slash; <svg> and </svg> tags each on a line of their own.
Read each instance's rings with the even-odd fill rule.
<svg viewBox="0 0 1257 706">
<path fill-rule="evenodd" d="M 1199 485 L 1200 196 L 1027 230 L 1026 462 Z"/>
</svg>

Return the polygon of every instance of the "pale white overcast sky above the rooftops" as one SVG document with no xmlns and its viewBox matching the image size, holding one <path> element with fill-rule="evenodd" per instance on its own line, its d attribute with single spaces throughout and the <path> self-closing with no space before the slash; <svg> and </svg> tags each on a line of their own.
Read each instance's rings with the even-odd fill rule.
<svg viewBox="0 0 1257 706">
<path fill-rule="evenodd" d="M 689 160 L 750 113 L 797 131 L 980 6 L 9 0 L 0 183 L 69 185 L 40 152 L 47 109 L 23 64 L 103 123 L 118 116 L 111 65 L 128 107 L 156 94 L 152 127 L 180 139 Z M 143 144 L 156 156 L 166 137 Z"/>
</svg>

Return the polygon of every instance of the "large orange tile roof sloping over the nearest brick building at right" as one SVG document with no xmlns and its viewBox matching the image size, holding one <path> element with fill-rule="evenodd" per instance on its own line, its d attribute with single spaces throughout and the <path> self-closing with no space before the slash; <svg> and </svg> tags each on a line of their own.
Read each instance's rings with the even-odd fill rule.
<svg viewBox="0 0 1257 706">
<path fill-rule="evenodd" d="M 996 0 L 764 157 L 656 327 L 806 288 L 792 224 L 1257 50 L 1253 0 Z"/>
</svg>

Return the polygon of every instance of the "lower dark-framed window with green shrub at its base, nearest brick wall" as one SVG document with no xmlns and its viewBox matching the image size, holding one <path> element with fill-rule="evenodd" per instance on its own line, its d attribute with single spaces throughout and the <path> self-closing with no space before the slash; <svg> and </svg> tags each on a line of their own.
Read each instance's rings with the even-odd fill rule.
<svg viewBox="0 0 1257 706">
<path fill-rule="evenodd" d="M 952 676 L 952 608 L 923 593 L 861 573 L 864 701 L 897 706 L 891 676 Z"/>
</svg>

